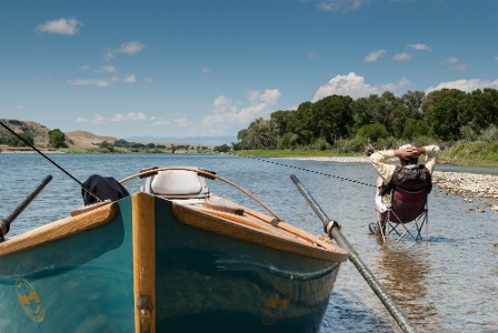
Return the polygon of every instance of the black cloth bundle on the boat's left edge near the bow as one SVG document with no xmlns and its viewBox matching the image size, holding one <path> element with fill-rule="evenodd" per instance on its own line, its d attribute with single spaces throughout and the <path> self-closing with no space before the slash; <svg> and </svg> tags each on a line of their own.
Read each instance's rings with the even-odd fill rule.
<svg viewBox="0 0 498 333">
<path fill-rule="evenodd" d="M 116 201 L 130 195 L 128 190 L 112 176 L 92 174 L 83 182 L 83 186 L 101 200 L 110 199 Z M 81 195 L 83 196 L 84 205 L 99 201 L 83 189 L 81 189 Z"/>
</svg>

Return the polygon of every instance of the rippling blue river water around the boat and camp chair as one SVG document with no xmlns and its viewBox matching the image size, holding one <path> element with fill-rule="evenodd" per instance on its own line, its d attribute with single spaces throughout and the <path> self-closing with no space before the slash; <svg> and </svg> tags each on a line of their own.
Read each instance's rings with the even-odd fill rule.
<svg viewBox="0 0 498 333">
<path fill-rule="evenodd" d="M 313 234 L 322 224 L 290 180 L 296 174 L 370 268 L 417 332 L 498 332 L 498 214 L 467 212 L 466 203 L 435 188 L 429 196 L 427 242 L 410 239 L 387 245 L 368 234 L 376 221 L 376 172 L 366 163 L 263 160 L 211 154 L 48 154 L 83 182 L 90 174 L 121 180 L 158 165 L 217 171 L 265 202 L 280 218 Z M 270 163 L 268 163 L 270 162 Z M 0 153 L 0 216 L 7 216 L 41 180 L 53 180 L 12 223 L 10 235 L 66 218 L 82 204 L 79 185 L 34 153 Z M 454 168 L 455 169 L 455 168 Z M 313 172 L 310 172 L 313 171 Z M 451 170 L 458 171 L 458 170 Z M 468 170 L 472 171 L 472 170 Z M 331 176 L 330 176 L 331 175 Z M 349 181 L 352 180 L 352 181 Z M 132 192 L 142 180 L 124 185 Z M 259 208 L 225 183 L 216 194 Z M 356 268 L 341 266 L 320 332 L 401 332 Z"/>
</svg>

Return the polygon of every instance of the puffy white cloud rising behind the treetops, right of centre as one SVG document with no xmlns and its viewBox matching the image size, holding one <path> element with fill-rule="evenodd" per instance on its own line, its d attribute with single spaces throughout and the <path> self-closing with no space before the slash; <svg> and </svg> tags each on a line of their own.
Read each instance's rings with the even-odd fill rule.
<svg viewBox="0 0 498 333">
<path fill-rule="evenodd" d="M 337 75 L 327 84 L 321 85 L 315 93 L 312 101 L 316 102 L 331 94 L 349 95 L 357 99 L 372 93 L 378 93 L 376 87 L 365 83 L 363 77 L 350 72 L 347 75 Z"/>
</svg>

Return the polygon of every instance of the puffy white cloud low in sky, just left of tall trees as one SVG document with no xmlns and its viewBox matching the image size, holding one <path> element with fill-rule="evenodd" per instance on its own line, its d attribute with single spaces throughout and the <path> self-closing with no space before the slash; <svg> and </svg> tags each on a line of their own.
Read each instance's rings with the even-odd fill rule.
<svg viewBox="0 0 498 333">
<path fill-rule="evenodd" d="M 262 93 L 249 91 L 248 99 L 249 105 L 239 109 L 227 97 L 218 97 L 213 101 L 215 114 L 202 119 L 202 127 L 209 128 L 213 134 L 225 133 L 230 128 L 247 127 L 255 119 L 265 118 L 275 111 L 280 99 L 280 91 L 278 89 L 266 89 Z"/>
</svg>

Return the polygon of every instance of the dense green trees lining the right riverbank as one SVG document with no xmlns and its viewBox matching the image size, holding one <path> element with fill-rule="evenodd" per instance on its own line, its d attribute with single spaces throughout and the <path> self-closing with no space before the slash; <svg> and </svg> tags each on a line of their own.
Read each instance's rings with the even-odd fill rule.
<svg viewBox="0 0 498 333">
<path fill-rule="evenodd" d="M 303 102 L 297 110 L 278 110 L 238 132 L 235 150 L 331 149 L 361 151 L 399 141 L 497 140 L 498 90 L 464 92 L 441 89 L 401 97 L 386 91 L 353 100 L 329 95 Z"/>
</svg>

